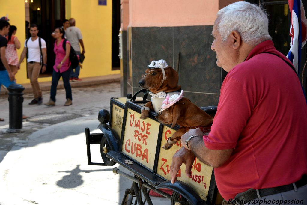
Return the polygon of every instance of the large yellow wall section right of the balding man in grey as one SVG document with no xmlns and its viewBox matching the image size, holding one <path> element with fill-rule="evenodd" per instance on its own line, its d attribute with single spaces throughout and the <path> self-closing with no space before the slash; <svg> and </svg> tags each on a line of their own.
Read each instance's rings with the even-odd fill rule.
<svg viewBox="0 0 307 205">
<path fill-rule="evenodd" d="M 76 19 L 83 37 L 85 60 L 79 77 L 119 74 L 112 71 L 112 1 L 98 6 L 97 0 L 66 0 L 65 7 L 66 18 Z"/>
</svg>

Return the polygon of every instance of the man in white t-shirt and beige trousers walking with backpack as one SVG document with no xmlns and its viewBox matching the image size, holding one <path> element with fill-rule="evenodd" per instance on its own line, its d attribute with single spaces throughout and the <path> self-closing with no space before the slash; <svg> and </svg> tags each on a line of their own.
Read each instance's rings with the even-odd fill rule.
<svg viewBox="0 0 307 205">
<path fill-rule="evenodd" d="M 28 52 L 27 71 L 34 94 L 34 99 L 29 103 L 29 105 L 35 105 L 35 104 L 40 105 L 43 102 L 43 97 L 37 79 L 40 71 L 42 72 L 46 71 L 47 47 L 45 40 L 37 36 L 38 33 L 37 25 L 35 24 L 30 25 L 30 33 L 31 37 L 25 40 L 25 48 L 21 53 L 17 67 L 18 69 L 20 68 L 20 64 Z"/>
</svg>

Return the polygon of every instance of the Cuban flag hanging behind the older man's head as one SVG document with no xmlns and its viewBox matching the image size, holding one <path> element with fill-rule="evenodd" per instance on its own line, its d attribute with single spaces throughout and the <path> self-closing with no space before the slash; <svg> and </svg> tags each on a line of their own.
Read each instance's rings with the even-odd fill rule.
<svg viewBox="0 0 307 205">
<path fill-rule="evenodd" d="M 301 65 L 301 49 L 304 47 L 307 40 L 307 20 L 305 17 L 305 10 L 301 0 L 288 0 L 289 9 L 291 13 L 290 24 L 290 51 L 287 58 L 293 63 L 297 72 L 300 73 Z"/>
</svg>

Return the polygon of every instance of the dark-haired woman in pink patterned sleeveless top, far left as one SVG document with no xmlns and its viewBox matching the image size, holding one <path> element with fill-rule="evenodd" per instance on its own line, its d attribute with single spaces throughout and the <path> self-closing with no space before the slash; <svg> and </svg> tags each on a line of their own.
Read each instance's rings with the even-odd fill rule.
<svg viewBox="0 0 307 205">
<path fill-rule="evenodd" d="M 11 25 L 9 29 L 9 35 L 6 36 L 7 46 L 5 50 L 6 60 L 8 64 L 10 65 L 11 71 L 14 73 L 14 75 L 16 75 L 18 71 L 18 68 L 17 68 L 18 55 L 17 55 L 16 49 L 20 49 L 21 47 L 20 41 L 15 36 L 16 32 L 17 32 L 17 27 L 14 25 Z"/>
</svg>

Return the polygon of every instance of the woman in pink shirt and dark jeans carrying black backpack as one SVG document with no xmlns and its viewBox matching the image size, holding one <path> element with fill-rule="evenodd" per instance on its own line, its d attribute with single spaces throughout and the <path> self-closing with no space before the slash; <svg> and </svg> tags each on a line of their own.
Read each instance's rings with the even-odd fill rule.
<svg viewBox="0 0 307 205">
<path fill-rule="evenodd" d="M 63 28 L 58 27 L 54 30 L 54 38 L 56 39 L 56 42 L 54 43 L 53 51 L 56 54 L 56 60 L 52 72 L 50 100 L 48 103 L 45 103 L 47 106 L 55 106 L 56 87 L 61 76 L 66 91 L 66 102 L 64 106 L 72 105 L 72 88 L 69 83 L 69 75 L 72 70 L 69 61 L 70 42 L 64 38 L 64 35 L 65 31 Z M 65 50 L 63 48 L 64 41 L 66 41 Z"/>
</svg>

